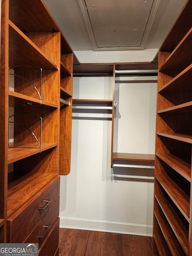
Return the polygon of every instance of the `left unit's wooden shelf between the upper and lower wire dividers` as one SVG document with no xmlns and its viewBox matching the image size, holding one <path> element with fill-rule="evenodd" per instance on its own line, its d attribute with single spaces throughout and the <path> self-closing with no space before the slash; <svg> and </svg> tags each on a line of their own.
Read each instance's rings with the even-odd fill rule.
<svg viewBox="0 0 192 256">
<path fill-rule="evenodd" d="M 23 107 L 27 105 L 36 105 L 39 104 L 44 107 L 54 107 L 58 108 L 58 105 L 46 102 L 46 101 L 41 101 L 40 99 L 32 98 L 30 96 L 23 95 L 18 92 L 13 92 L 9 91 L 9 106 L 10 107 Z"/>
</svg>

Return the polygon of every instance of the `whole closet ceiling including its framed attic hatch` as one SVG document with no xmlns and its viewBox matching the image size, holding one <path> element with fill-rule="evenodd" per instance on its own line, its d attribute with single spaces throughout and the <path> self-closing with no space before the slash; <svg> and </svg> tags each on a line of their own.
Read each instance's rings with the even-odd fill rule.
<svg viewBox="0 0 192 256">
<path fill-rule="evenodd" d="M 44 0 L 73 51 L 158 49 L 186 0 Z"/>
</svg>

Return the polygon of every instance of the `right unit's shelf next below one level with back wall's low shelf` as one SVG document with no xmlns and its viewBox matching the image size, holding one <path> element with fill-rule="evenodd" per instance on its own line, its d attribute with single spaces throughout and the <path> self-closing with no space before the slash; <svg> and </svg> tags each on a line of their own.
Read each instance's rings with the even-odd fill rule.
<svg viewBox="0 0 192 256">
<path fill-rule="evenodd" d="M 189 222 L 190 197 L 167 174 L 155 177 Z"/>
</svg>

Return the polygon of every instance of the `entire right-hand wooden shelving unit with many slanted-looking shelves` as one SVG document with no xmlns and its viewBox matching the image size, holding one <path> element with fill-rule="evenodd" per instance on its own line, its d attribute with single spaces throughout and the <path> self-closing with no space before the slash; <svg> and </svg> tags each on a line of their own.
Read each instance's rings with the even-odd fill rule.
<svg viewBox="0 0 192 256">
<path fill-rule="evenodd" d="M 154 255 L 192 255 L 191 11 L 189 0 L 159 51 Z"/>
</svg>

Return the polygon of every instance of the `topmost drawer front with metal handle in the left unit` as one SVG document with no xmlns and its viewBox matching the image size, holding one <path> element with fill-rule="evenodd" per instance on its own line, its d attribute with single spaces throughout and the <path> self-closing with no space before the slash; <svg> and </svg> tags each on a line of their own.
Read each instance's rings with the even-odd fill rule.
<svg viewBox="0 0 192 256">
<path fill-rule="evenodd" d="M 55 177 L 7 220 L 7 243 L 22 243 L 59 196 L 60 176 Z"/>
</svg>

